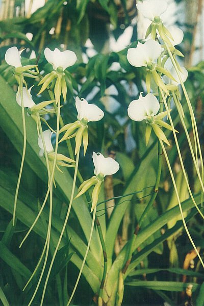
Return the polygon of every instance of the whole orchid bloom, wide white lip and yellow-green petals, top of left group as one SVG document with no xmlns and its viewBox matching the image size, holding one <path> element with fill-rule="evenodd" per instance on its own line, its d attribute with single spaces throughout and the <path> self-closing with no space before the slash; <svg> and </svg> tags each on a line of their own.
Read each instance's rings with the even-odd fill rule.
<svg viewBox="0 0 204 306">
<path fill-rule="evenodd" d="M 38 94 L 42 93 L 50 83 L 55 82 L 54 92 L 56 104 L 60 99 L 61 93 L 65 102 L 67 95 L 67 86 L 64 70 L 67 67 L 70 67 L 75 64 L 75 62 L 77 61 L 77 56 L 73 51 L 66 50 L 61 52 L 58 48 L 55 48 L 54 51 L 50 50 L 49 48 L 45 48 L 44 56 L 47 62 L 53 66 L 54 70 L 46 74 L 39 82 L 38 86 L 42 85 L 42 87 Z"/>
</svg>

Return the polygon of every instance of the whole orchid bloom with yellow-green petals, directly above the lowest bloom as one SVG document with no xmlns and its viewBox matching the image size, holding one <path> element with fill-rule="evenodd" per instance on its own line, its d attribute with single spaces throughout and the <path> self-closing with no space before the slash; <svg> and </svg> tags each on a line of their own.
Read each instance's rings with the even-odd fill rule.
<svg viewBox="0 0 204 306">
<path fill-rule="evenodd" d="M 65 132 L 64 136 L 59 141 L 75 137 L 75 154 L 79 151 L 82 140 L 84 145 L 84 155 L 88 146 L 88 122 L 99 121 L 104 117 L 104 112 L 94 104 L 88 104 L 84 98 L 75 98 L 75 106 L 78 112 L 78 120 L 73 123 L 68 123 L 62 127 L 59 133 Z"/>
</svg>

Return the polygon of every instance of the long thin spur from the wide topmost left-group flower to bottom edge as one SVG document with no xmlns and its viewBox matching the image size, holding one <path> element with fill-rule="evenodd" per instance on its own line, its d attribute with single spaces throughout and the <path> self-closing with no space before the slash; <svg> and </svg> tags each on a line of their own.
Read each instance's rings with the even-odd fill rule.
<svg viewBox="0 0 204 306">
<path fill-rule="evenodd" d="M 52 209 L 53 209 L 53 181 L 54 181 L 54 174 L 55 174 L 55 167 L 56 167 L 56 161 L 57 161 L 57 152 L 58 152 L 58 142 L 59 142 L 59 127 L 60 127 L 60 101 L 58 102 L 58 106 L 57 106 L 57 132 L 56 132 L 56 145 L 55 145 L 55 156 L 54 156 L 54 161 L 53 161 L 53 169 L 52 169 L 52 174 L 50 177 L 50 182 L 49 182 L 49 186 L 48 189 L 50 189 L 49 194 L 50 194 L 50 206 L 49 206 L 49 220 L 48 220 L 48 228 L 47 228 L 47 237 L 45 240 L 45 244 L 47 244 L 47 248 L 46 248 L 46 253 L 45 253 L 45 260 L 44 260 L 44 264 L 43 264 L 43 268 L 40 274 L 40 278 L 38 281 L 38 284 L 36 286 L 35 292 L 29 302 L 29 306 L 31 305 L 33 299 L 36 296 L 36 293 L 38 291 L 38 288 L 40 286 L 41 283 L 41 279 L 42 276 L 44 274 L 44 270 L 45 270 L 45 266 L 47 263 L 47 259 L 48 259 L 48 252 L 49 252 L 49 241 L 50 241 L 50 232 L 51 232 L 51 225 L 52 225 Z M 41 301 L 43 302 L 43 300 Z"/>
</svg>

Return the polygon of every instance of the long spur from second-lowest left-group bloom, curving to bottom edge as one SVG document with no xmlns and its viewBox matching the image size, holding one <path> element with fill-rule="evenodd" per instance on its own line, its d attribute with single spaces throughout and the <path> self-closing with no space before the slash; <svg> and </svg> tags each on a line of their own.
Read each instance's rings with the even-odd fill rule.
<svg viewBox="0 0 204 306">
<path fill-rule="evenodd" d="M 73 196 L 74 196 L 76 180 L 77 180 L 77 172 L 78 172 L 78 166 L 79 166 L 79 157 L 80 157 L 80 150 L 78 151 L 77 158 L 76 158 L 76 164 L 75 164 L 75 170 L 74 170 L 74 176 L 73 176 L 73 185 L 72 185 L 72 190 L 71 190 L 69 207 L 68 207 L 68 210 L 67 210 L 66 218 L 65 218 L 65 221 L 64 221 L 64 224 L 63 224 L 63 227 L 62 227 L 62 231 L 61 231 L 61 234 L 60 234 L 60 237 L 59 237 L 59 240 L 58 240 L 55 252 L 53 254 L 52 261 L 50 263 L 50 266 L 49 266 L 49 269 L 48 269 L 48 272 L 47 272 L 47 276 L 46 276 L 45 283 L 44 283 L 44 288 L 43 288 L 43 293 L 42 293 L 41 304 L 42 304 L 43 299 L 44 299 L 44 294 L 45 294 L 47 282 L 48 282 L 48 279 L 49 279 L 49 275 L 50 275 L 50 272 L 52 270 L 52 267 L 53 267 L 53 264 L 54 264 L 54 261 L 55 261 L 55 258 L 56 258 L 56 254 L 57 254 L 57 251 L 59 249 L 59 246 L 60 246 L 60 243 L 61 243 L 64 231 L 65 231 L 65 228 L 66 228 L 66 225 L 67 225 L 67 221 L 68 221 L 68 218 L 69 218 L 69 214 L 70 214 L 70 210 L 71 210 L 71 206 L 72 206 L 72 202 L 73 202 Z"/>
</svg>

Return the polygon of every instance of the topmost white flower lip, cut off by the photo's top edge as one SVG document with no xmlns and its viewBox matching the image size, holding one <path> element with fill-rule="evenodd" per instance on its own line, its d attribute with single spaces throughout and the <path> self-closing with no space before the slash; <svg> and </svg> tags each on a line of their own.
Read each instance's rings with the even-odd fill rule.
<svg viewBox="0 0 204 306">
<path fill-rule="evenodd" d="M 145 0 L 136 4 L 136 7 L 145 18 L 153 21 L 155 17 L 160 17 L 168 8 L 165 0 Z"/>
</svg>

